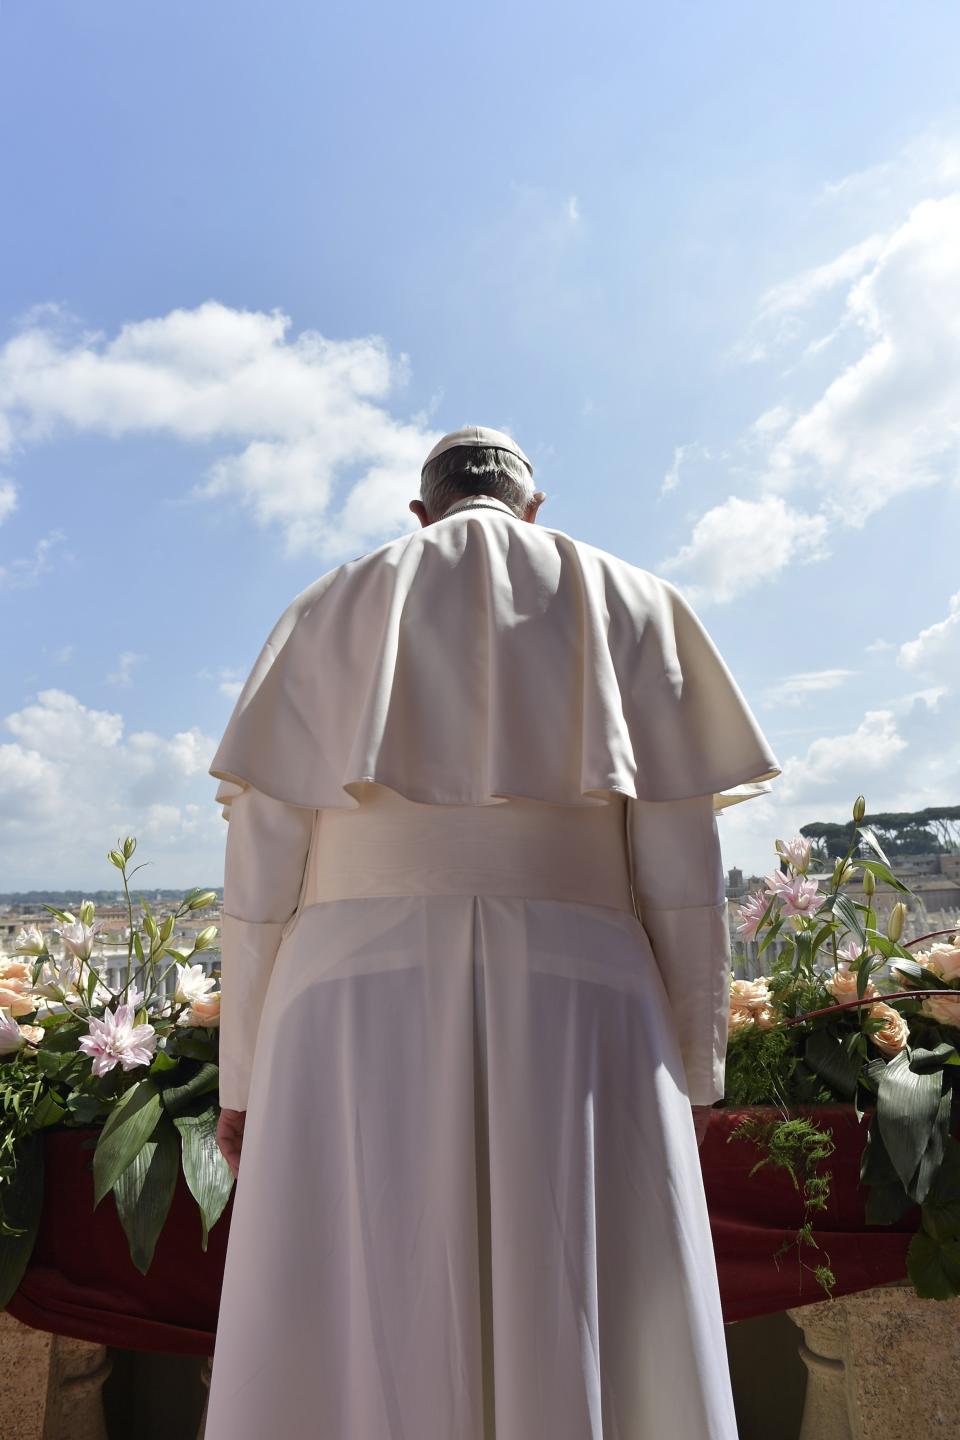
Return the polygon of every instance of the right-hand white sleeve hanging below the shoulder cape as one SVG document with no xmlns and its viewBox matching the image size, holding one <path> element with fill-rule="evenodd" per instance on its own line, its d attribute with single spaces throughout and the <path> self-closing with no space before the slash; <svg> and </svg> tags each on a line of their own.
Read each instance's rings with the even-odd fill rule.
<svg viewBox="0 0 960 1440">
<path fill-rule="evenodd" d="M 628 799 L 633 894 L 674 1014 L 691 1104 L 724 1094 L 731 946 L 712 795 Z"/>
</svg>

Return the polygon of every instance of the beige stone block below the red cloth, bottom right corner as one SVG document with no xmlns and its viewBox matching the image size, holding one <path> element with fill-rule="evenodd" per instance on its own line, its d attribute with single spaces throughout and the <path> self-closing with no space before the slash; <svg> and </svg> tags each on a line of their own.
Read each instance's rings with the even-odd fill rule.
<svg viewBox="0 0 960 1440">
<path fill-rule="evenodd" d="M 800 1440 L 915 1440 L 960 1420 L 960 1297 L 905 1280 L 786 1312 L 807 1368 Z"/>
</svg>

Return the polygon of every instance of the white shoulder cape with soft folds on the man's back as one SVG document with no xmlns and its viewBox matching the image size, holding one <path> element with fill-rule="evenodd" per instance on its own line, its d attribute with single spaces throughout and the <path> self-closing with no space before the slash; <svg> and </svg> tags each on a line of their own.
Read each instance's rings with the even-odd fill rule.
<svg viewBox="0 0 960 1440">
<path fill-rule="evenodd" d="M 714 795 L 780 773 L 668 580 L 502 510 L 461 510 L 322 575 L 284 611 L 209 773 L 308 808 Z"/>
</svg>

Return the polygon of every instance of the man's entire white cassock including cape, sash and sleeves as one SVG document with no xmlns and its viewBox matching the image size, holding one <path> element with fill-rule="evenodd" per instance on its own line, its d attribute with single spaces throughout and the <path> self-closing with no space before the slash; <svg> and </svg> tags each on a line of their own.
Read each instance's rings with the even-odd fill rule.
<svg viewBox="0 0 960 1440">
<path fill-rule="evenodd" d="M 715 812 L 780 766 L 681 593 L 458 503 L 296 596 L 210 773 L 246 1130 L 206 1440 L 735 1440 L 689 1106 Z"/>
</svg>

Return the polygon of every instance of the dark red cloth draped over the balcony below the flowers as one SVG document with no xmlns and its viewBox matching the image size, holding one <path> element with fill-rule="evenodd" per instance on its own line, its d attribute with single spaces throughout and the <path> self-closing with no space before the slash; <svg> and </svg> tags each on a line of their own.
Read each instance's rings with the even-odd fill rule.
<svg viewBox="0 0 960 1440">
<path fill-rule="evenodd" d="M 747 1113 L 776 1112 L 714 1110 L 699 1152 L 727 1322 L 825 1299 L 812 1270 L 800 1266 L 796 1247 L 779 1263 L 773 1259 L 780 1241 L 796 1234 L 803 1200 L 784 1171 L 767 1165 L 748 1175 L 760 1158 L 751 1143 L 727 1142 Z M 833 1129 L 836 1149 L 823 1166 L 833 1174 L 829 1204 L 812 1217 L 822 1248 L 805 1246 L 803 1261 L 815 1266 L 829 1256 L 835 1295 L 902 1279 L 907 1246 L 920 1223 L 918 1207 L 897 1225 L 865 1224 L 859 1161 L 866 1119 L 858 1125 L 852 1106 L 819 1107 L 815 1117 Z M 181 1174 L 144 1276 L 130 1259 L 112 1195 L 92 1210 L 92 1149 L 82 1149 L 82 1143 L 96 1133 L 46 1132 L 40 1230 L 9 1312 L 37 1329 L 122 1349 L 212 1355 L 233 1192 L 204 1253 L 200 1212 Z M 638 1224 L 643 1224 L 642 1215 Z"/>
</svg>

